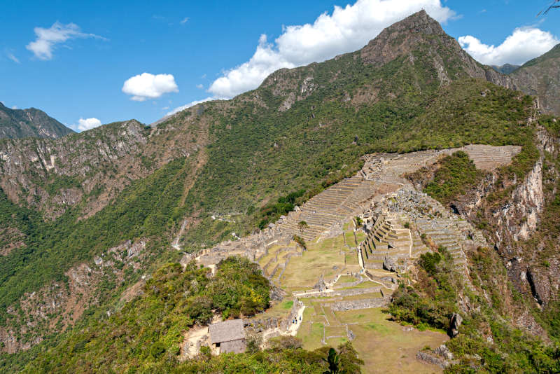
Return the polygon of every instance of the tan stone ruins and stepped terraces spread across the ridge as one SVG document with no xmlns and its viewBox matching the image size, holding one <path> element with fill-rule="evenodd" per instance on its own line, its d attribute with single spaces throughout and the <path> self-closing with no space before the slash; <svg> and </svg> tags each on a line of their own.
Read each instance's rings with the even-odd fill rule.
<svg viewBox="0 0 560 374">
<path fill-rule="evenodd" d="M 185 255 L 181 262 L 196 258 L 211 266 L 232 255 L 258 262 L 269 253 L 269 248 L 280 245 L 283 247 L 276 249 L 276 256 L 261 264 L 265 276 L 274 281 L 280 279 L 290 258 L 302 255 L 300 247 L 290 247 L 293 235 L 300 235 L 307 241 L 320 240 L 341 233 L 342 224 L 359 215 L 365 219 L 369 231 L 358 248 L 364 268 L 405 270 L 421 253 L 442 246 L 467 275 L 463 249 L 486 245 L 484 237 L 439 202 L 416 191 L 403 177 L 456 151 L 468 153 L 477 168 L 491 171 L 511 162 L 520 147 L 469 145 L 406 154 L 365 155 L 364 166 L 356 176 L 330 186 L 269 228 L 240 240 L 222 242 L 194 255 Z M 309 227 L 300 230 L 297 226 L 300 221 L 305 221 Z"/>
</svg>

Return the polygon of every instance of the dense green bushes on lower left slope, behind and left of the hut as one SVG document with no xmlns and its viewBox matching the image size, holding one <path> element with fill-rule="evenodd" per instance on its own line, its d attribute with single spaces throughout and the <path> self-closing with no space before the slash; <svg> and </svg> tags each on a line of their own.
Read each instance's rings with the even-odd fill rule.
<svg viewBox="0 0 560 374">
<path fill-rule="evenodd" d="M 183 334 L 195 323 L 207 324 L 213 310 L 223 317 L 251 316 L 268 305 L 269 284 L 257 265 L 232 257 L 218 264 L 215 277 L 209 271 L 195 263 L 184 270 L 178 263 L 164 265 L 146 282 L 144 296 L 76 328 L 24 371 L 153 373 L 170 367 L 165 363 L 177 366 Z"/>
</svg>

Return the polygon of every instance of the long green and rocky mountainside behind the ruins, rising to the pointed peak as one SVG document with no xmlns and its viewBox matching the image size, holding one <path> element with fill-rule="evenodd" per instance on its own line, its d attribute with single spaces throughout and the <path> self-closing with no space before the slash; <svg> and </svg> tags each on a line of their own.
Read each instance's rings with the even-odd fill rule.
<svg viewBox="0 0 560 374">
<path fill-rule="evenodd" d="M 159 265 L 179 261 L 177 247 L 266 226 L 355 174 L 366 153 L 521 146 L 522 179 L 538 158 L 535 106 L 508 87 L 421 11 L 362 50 L 281 69 L 154 128 L 130 120 L 0 141 L 4 358 L 25 363 L 61 331 L 118 312 Z"/>
</svg>

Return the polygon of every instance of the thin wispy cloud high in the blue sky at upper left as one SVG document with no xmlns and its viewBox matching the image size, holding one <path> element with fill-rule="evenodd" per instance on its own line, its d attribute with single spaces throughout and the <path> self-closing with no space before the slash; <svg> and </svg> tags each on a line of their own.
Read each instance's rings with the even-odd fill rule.
<svg viewBox="0 0 560 374">
<path fill-rule="evenodd" d="M 80 27 L 74 23 L 62 25 L 60 22 L 55 22 L 48 29 L 35 27 L 34 32 L 36 35 L 35 41 L 31 41 L 31 43 L 27 44 L 25 48 L 31 50 L 31 52 L 33 52 L 40 60 L 52 59 L 52 50 L 55 46 L 59 43 L 64 43 L 69 39 L 96 38 L 106 40 L 102 36 L 81 32 Z"/>
</svg>

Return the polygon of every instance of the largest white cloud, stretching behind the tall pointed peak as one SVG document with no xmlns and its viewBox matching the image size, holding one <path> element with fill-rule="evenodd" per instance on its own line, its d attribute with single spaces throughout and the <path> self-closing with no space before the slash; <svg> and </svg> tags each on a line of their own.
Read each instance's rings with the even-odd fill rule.
<svg viewBox="0 0 560 374">
<path fill-rule="evenodd" d="M 274 43 L 268 43 L 267 36 L 261 35 L 253 57 L 225 71 L 211 84 L 209 92 L 233 97 L 257 88 L 277 69 L 321 62 L 358 50 L 385 27 L 421 9 L 440 22 L 456 15 L 440 0 L 358 0 L 344 8 L 335 6 L 332 15 L 323 13 L 313 24 L 283 27 Z"/>
</svg>

